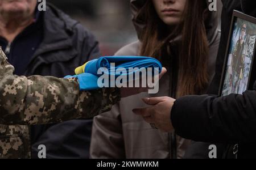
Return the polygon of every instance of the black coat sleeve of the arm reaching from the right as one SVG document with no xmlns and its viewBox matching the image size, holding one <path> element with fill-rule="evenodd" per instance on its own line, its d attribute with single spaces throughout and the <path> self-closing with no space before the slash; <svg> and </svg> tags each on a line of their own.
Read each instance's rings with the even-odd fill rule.
<svg viewBox="0 0 256 170">
<path fill-rule="evenodd" d="M 243 95 L 185 96 L 171 113 L 176 133 L 193 141 L 249 143 L 256 141 L 256 91 Z"/>
</svg>

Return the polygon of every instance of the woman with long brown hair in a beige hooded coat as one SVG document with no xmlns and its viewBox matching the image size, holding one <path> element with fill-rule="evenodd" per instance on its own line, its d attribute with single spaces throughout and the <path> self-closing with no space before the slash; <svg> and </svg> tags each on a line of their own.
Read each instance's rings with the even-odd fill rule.
<svg viewBox="0 0 256 170">
<path fill-rule="evenodd" d="M 118 56 L 150 56 L 167 68 L 156 95 L 121 100 L 110 113 L 94 119 L 92 158 L 183 158 L 191 141 L 162 133 L 135 116 L 143 97 L 204 94 L 212 80 L 220 40 L 217 14 L 202 0 L 131 0 L 139 41 Z"/>
</svg>

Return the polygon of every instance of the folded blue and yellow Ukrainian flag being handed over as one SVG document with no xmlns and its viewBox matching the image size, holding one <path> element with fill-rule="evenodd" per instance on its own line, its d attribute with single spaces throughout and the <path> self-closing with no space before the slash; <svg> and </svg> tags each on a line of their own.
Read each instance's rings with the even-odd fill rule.
<svg viewBox="0 0 256 170">
<path fill-rule="evenodd" d="M 115 67 L 112 67 L 110 65 L 111 63 L 114 63 Z M 120 70 L 117 71 L 121 68 L 125 69 L 126 73 L 123 73 L 123 71 Z M 131 68 L 138 68 L 138 70 L 133 70 L 130 72 L 129 69 Z M 96 90 L 100 88 L 98 86 L 98 78 L 100 78 L 100 76 L 103 74 L 109 76 L 114 75 L 114 77 L 117 78 L 120 75 L 135 74 L 137 71 L 141 71 L 141 69 L 148 68 L 152 68 L 153 72 L 155 68 L 159 68 L 160 73 L 162 71 L 162 64 L 157 59 L 151 57 L 100 57 L 98 59 L 93 59 L 80 67 L 77 67 L 75 70 L 75 77 L 79 79 L 80 90 Z M 98 70 L 100 70 L 101 74 L 98 74 Z M 72 76 L 66 76 L 65 78 L 70 77 Z"/>
</svg>

